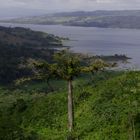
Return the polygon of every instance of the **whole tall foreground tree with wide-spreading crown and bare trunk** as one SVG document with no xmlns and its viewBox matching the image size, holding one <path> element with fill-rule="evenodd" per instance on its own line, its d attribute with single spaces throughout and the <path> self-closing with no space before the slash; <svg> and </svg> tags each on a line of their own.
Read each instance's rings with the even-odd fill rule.
<svg viewBox="0 0 140 140">
<path fill-rule="evenodd" d="M 49 83 L 50 78 L 59 77 L 68 83 L 68 130 L 71 132 L 74 127 L 74 107 L 73 107 L 73 86 L 72 82 L 80 73 L 97 72 L 110 65 L 100 59 L 96 59 L 89 64 L 82 63 L 83 59 L 77 54 L 68 50 L 59 51 L 54 55 L 54 63 L 48 64 L 46 61 L 33 62 L 32 69 L 35 72 L 35 78 L 46 79 Z M 32 78 L 31 78 L 32 79 Z M 31 80 L 29 78 L 29 80 Z M 28 80 L 28 78 L 27 78 Z M 49 84 L 48 84 L 49 85 Z M 71 137 L 70 137 L 71 139 Z"/>
</svg>

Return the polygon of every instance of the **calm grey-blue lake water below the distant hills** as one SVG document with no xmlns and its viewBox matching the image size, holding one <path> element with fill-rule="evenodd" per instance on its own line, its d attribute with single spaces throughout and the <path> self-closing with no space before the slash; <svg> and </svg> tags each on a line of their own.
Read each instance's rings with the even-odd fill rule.
<svg viewBox="0 0 140 140">
<path fill-rule="evenodd" d="M 140 69 L 140 30 L 9 23 L 0 23 L 0 25 L 27 27 L 60 37 L 68 37 L 70 41 L 64 42 L 64 45 L 70 46 L 71 50 L 79 53 L 90 55 L 125 54 L 132 58 L 129 60 L 131 64 L 127 64 L 126 67 Z"/>
</svg>

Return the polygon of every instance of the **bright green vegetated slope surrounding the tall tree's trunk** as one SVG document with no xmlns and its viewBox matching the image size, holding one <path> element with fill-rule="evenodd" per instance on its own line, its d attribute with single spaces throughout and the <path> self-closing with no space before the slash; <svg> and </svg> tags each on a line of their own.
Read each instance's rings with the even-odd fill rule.
<svg viewBox="0 0 140 140">
<path fill-rule="evenodd" d="M 95 76 L 95 82 L 89 79 L 87 76 L 74 82 L 74 136 L 80 140 L 127 140 L 135 134 L 138 140 L 140 72 L 100 74 Z M 48 95 L 35 93 L 35 84 L 29 85 L 32 88 L 13 89 L 12 95 L 11 90 L 1 89 L 2 139 L 65 139 L 67 93 L 66 84 L 62 81 L 59 84 L 64 89 Z M 37 92 L 44 92 L 43 86 L 37 87 L 40 88 Z"/>
</svg>

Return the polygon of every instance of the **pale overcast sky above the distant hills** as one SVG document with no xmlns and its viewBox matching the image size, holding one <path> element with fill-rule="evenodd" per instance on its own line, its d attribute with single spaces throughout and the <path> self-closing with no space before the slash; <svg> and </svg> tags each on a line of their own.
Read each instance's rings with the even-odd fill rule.
<svg viewBox="0 0 140 140">
<path fill-rule="evenodd" d="M 140 0 L 0 0 L 0 18 L 62 11 L 139 9 Z"/>
</svg>

